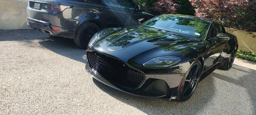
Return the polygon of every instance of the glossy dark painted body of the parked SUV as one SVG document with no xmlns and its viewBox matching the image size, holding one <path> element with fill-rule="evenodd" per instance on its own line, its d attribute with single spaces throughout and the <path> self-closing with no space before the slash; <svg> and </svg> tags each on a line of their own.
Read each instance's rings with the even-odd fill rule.
<svg viewBox="0 0 256 115">
<path fill-rule="evenodd" d="M 154 17 L 138 9 L 132 0 L 134 9 L 96 5 L 94 0 L 28 0 L 27 23 L 30 27 L 49 31 L 51 35 L 74 38 L 80 26 L 86 22 L 97 24 L 100 29 L 109 27 L 138 26 L 138 19 L 148 20 Z M 34 3 L 41 3 L 40 9 L 33 9 Z M 63 5 L 63 11 L 52 11 L 51 4 Z M 47 6 L 47 9 L 44 8 Z M 52 31 L 52 27 L 60 28 Z M 47 33 L 47 32 L 46 32 Z M 47 33 L 47 34 L 49 34 Z"/>
</svg>

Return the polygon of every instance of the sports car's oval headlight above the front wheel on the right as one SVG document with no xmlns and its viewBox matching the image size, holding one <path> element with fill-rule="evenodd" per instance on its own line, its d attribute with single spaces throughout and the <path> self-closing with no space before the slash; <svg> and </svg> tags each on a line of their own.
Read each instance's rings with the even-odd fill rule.
<svg viewBox="0 0 256 115">
<path fill-rule="evenodd" d="M 163 56 L 163 57 L 157 57 L 157 58 L 148 60 L 143 64 L 143 66 L 147 68 L 168 67 L 168 66 L 174 65 L 175 63 L 178 63 L 180 60 L 181 58 L 179 57 Z"/>
</svg>

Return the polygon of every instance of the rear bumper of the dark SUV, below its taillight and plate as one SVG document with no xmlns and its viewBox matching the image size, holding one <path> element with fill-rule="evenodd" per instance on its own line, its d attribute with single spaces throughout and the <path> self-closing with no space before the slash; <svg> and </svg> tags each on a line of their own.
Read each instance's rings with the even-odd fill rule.
<svg viewBox="0 0 256 115">
<path fill-rule="evenodd" d="M 45 22 L 42 20 L 36 20 L 36 19 L 30 18 L 30 17 L 27 17 L 26 21 L 27 21 L 27 24 L 29 27 L 31 27 L 33 29 L 37 29 L 41 32 L 48 34 L 48 35 L 67 37 L 67 38 L 74 38 L 76 36 L 74 30 L 65 29 L 63 27 L 58 27 L 58 26 L 53 26 L 49 22 Z M 57 27 L 60 30 L 53 31 L 52 27 Z"/>
</svg>

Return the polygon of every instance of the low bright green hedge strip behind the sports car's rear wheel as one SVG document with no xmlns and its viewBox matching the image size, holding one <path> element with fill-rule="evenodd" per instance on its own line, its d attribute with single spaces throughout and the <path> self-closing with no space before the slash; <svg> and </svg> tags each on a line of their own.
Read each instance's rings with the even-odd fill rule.
<svg viewBox="0 0 256 115">
<path fill-rule="evenodd" d="M 244 60 L 250 60 L 250 61 L 256 62 L 256 54 L 253 54 L 252 52 L 245 52 L 242 50 L 238 50 L 236 52 L 236 57 Z"/>
</svg>

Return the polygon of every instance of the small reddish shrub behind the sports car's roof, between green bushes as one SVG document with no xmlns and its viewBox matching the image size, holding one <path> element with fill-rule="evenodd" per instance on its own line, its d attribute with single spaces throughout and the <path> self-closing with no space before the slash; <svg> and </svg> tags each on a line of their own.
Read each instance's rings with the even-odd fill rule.
<svg viewBox="0 0 256 115">
<path fill-rule="evenodd" d="M 159 0 L 154 3 L 149 12 L 155 15 L 159 14 L 172 14 L 176 13 L 176 9 L 179 7 L 177 3 L 172 0 Z"/>
</svg>

